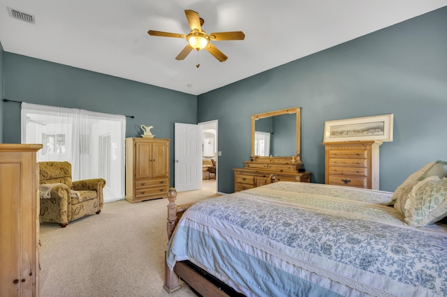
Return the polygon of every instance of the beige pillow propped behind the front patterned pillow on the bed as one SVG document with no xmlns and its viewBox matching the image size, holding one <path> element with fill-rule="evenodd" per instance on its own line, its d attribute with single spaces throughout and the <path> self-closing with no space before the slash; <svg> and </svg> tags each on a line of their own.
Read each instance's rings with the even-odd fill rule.
<svg viewBox="0 0 447 297">
<path fill-rule="evenodd" d="M 408 198 L 408 194 L 411 192 L 413 185 L 416 185 L 418 181 L 423 181 L 429 176 L 438 176 L 439 178 L 447 176 L 447 162 L 441 160 L 430 162 L 417 172 L 411 174 L 408 178 L 406 178 L 402 185 L 397 187 L 393 196 L 391 197 L 391 201 L 388 202 L 387 205 L 394 205 L 398 211 L 404 213 L 405 201 Z"/>
</svg>

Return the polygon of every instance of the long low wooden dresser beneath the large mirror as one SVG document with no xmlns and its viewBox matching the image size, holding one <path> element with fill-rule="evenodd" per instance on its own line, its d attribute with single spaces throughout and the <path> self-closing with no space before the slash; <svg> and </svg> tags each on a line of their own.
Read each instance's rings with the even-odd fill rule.
<svg viewBox="0 0 447 297">
<path fill-rule="evenodd" d="M 310 182 L 312 172 L 298 172 L 301 162 L 292 158 L 272 157 L 244 161 L 244 168 L 234 168 L 235 192 L 256 188 L 277 181 Z"/>
</svg>

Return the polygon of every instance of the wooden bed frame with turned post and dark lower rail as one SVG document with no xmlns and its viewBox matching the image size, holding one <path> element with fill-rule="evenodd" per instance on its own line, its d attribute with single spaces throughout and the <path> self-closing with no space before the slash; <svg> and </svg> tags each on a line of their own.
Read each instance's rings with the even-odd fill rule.
<svg viewBox="0 0 447 297">
<path fill-rule="evenodd" d="M 182 204 L 177 206 L 175 199 L 177 198 L 177 191 L 175 188 L 168 190 L 168 240 L 173 235 L 173 231 L 179 218 L 182 217 L 184 211 L 189 208 L 193 203 Z M 166 264 L 165 254 L 165 284 L 163 288 L 171 293 L 181 288 L 179 279 L 182 278 L 184 282 L 202 296 L 244 296 L 238 293 L 233 288 L 224 284 L 216 277 L 203 271 L 198 266 L 192 264 L 190 261 L 178 261 L 173 270 L 170 270 Z"/>
</svg>

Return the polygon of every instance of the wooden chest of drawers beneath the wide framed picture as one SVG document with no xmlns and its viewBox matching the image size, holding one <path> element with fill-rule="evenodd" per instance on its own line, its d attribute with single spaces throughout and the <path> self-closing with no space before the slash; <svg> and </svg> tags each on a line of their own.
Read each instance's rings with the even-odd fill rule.
<svg viewBox="0 0 447 297">
<path fill-rule="evenodd" d="M 325 183 L 379 190 L 382 142 L 323 142 Z"/>
</svg>

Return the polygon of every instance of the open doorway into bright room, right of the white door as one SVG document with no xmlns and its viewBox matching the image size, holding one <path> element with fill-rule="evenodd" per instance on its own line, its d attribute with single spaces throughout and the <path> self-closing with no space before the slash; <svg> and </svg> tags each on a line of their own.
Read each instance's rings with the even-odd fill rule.
<svg viewBox="0 0 447 297">
<path fill-rule="evenodd" d="M 202 190 L 217 192 L 217 120 L 198 125 L 202 126 Z"/>
</svg>

